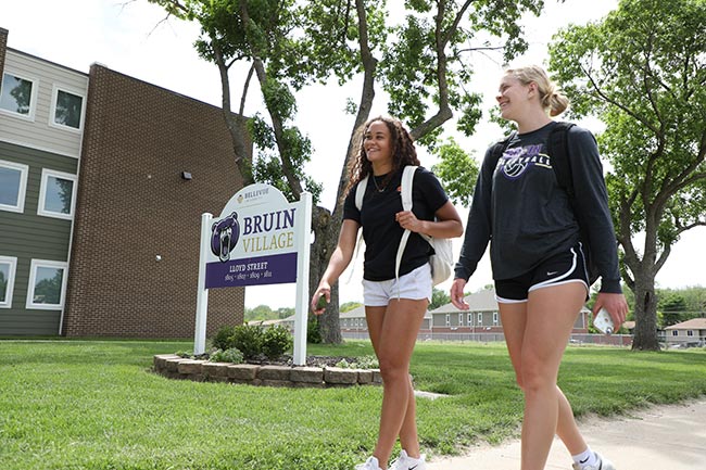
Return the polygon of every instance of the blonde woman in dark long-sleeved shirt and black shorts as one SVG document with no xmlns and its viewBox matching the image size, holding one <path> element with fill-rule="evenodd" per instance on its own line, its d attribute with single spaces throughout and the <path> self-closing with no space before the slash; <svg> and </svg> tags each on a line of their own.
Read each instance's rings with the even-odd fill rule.
<svg viewBox="0 0 706 470">
<path fill-rule="evenodd" d="M 461 257 L 451 288 L 452 303 L 467 309 L 464 287 L 490 241 L 507 350 L 525 394 L 521 470 L 542 470 L 557 434 L 576 470 L 615 470 L 594 453 L 573 420 L 557 374 L 573 322 L 588 297 L 588 275 L 577 214 L 546 156 L 547 136 L 568 99 L 538 66 L 506 71 L 496 97 L 501 115 L 517 134 L 496 165 L 490 149 L 481 166 Z M 591 220 L 591 251 L 601 275 L 593 313 L 605 307 L 615 325 L 628 305 L 620 288 L 618 257 L 598 150 L 593 136 L 568 130 L 577 211 Z M 492 163 L 491 163 L 492 162 Z"/>
</svg>

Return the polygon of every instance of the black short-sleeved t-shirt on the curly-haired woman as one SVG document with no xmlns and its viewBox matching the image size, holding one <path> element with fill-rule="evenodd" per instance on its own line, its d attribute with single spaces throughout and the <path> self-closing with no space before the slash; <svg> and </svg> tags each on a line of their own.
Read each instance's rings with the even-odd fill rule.
<svg viewBox="0 0 706 470">
<path fill-rule="evenodd" d="M 378 181 L 381 178 L 378 177 Z M 404 229 L 394 219 L 394 215 L 402 211 L 401 196 L 402 169 L 396 172 L 389 183 L 381 188 L 375 187 L 373 175 L 363 198 L 363 208 L 358 212 L 355 207 L 355 189 L 353 187 L 343 203 L 343 218 L 355 220 L 363 226 L 365 240 L 365 261 L 363 278 L 369 281 L 386 281 L 394 279 L 394 264 L 398 246 Z M 412 183 L 412 212 L 420 220 L 433 220 L 436 212 L 446 203 L 449 198 L 441 183 L 426 168 L 419 167 L 414 174 Z M 431 245 L 412 232 L 402 255 L 400 276 L 413 271 L 433 254 Z"/>
</svg>

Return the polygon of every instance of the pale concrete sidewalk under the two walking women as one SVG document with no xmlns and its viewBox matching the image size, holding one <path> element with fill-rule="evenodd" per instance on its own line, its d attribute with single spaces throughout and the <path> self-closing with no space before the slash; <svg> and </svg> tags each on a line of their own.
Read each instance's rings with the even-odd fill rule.
<svg viewBox="0 0 706 470">
<path fill-rule="evenodd" d="M 616 470 L 706 470 L 706 399 L 659 405 L 629 417 L 579 421 L 591 448 Z M 481 445 L 462 457 L 436 458 L 428 470 L 519 470 L 520 444 Z M 546 470 L 570 470 L 571 456 L 554 440 Z"/>
</svg>

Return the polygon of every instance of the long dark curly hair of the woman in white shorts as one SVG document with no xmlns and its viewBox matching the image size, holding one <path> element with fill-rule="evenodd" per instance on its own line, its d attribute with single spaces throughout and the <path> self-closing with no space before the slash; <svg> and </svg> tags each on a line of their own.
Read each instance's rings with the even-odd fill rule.
<svg viewBox="0 0 706 470">
<path fill-rule="evenodd" d="M 368 119 L 367 123 L 358 127 L 353 136 L 353 148 L 348 167 L 348 187 L 343 194 L 348 194 L 351 188 L 357 185 L 363 178 L 373 173 L 373 164 L 368 161 L 363 143 L 373 123 L 383 123 L 390 131 L 390 142 L 392 144 L 392 170 L 388 174 L 383 185 L 387 185 L 400 168 L 406 165 L 419 165 L 417 149 L 407 129 L 404 128 L 399 119 L 386 116 L 377 116 Z"/>
</svg>

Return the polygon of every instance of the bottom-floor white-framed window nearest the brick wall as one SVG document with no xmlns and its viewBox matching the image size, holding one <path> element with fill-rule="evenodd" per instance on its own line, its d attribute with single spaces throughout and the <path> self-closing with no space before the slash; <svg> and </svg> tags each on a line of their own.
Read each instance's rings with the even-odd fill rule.
<svg viewBox="0 0 706 470">
<path fill-rule="evenodd" d="M 33 259 L 27 289 L 27 308 L 58 309 L 64 306 L 66 287 L 64 262 Z"/>
</svg>

